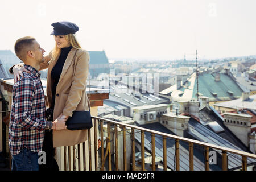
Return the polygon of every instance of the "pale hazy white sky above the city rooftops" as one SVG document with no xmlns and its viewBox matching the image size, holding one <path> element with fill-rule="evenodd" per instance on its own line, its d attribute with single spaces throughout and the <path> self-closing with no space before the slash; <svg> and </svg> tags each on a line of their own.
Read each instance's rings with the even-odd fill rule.
<svg viewBox="0 0 256 182">
<path fill-rule="evenodd" d="M 83 49 L 108 59 L 171 60 L 256 55 L 255 0 L 0 1 L 0 49 L 34 36 L 46 53 L 51 24 L 76 23 Z"/>
</svg>

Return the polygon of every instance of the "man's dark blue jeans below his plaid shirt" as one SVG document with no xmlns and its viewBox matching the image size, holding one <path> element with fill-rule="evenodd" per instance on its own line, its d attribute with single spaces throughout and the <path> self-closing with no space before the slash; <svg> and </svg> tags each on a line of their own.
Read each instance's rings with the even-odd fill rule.
<svg viewBox="0 0 256 182">
<path fill-rule="evenodd" d="M 11 171 L 38 171 L 38 152 L 23 148 L 19 154 L 13 155 Z"/>
</svg>

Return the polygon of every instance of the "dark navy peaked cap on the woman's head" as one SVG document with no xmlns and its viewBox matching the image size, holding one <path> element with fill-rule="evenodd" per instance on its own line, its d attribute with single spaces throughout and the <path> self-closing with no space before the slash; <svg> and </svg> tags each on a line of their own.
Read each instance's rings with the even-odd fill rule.
<svg viewBox="0 0 256 182">
<path fill-rule="evenodd" d="M 63 22 L 55 22 L 52 23 L 53 31 L 51 35 L 67 35 L 67 34 L 75 34 L 79 31 L 79 27 L 75 23 L 63 21 Z"/>
</svg>

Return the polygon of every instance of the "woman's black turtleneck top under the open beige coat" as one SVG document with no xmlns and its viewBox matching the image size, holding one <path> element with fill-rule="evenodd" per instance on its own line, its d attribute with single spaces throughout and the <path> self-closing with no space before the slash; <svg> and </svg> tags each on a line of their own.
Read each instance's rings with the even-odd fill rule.
<svg viewBox="0 0 256 182">
<path fill-rule="evenodd" d="M 61 48 L 60 57 L 57 60 L 57 63 L 52 68 L 51 77 L 52 77 L 52 106 L 54 107 L 55 104 L 55 96 L 56 96 L 56 87 L 60 80 L 60 74 L 62 72 L 65 60 L 67 59 L 69 51 L 72 49 L 72 46 L 70 47 L 64 47 Z"/>
</svg>

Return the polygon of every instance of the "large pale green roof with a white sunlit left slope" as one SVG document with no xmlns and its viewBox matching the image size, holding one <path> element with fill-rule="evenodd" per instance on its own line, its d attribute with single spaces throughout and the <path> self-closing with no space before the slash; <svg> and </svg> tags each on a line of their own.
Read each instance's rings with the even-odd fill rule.
<svg viewBox="0 0 256 182">
<path fill-rule="evenodd" d="M 226 73 L 220 73 L 220 81 L 215 81 L 215 73 L 202 73 L 199 75 L 199 96 L 209 97 L 209 101 L 226 101 L 240 98 L 242 89 L 236 81 Z M 173 100 L 189 101 L 197 98 L 197 80 L 196 74 L 193 73 L 187 79 L 187 83 L 180 88 L 173 85 L 160 92 L 160 94 L 171 94 Z"/>
</svg>

